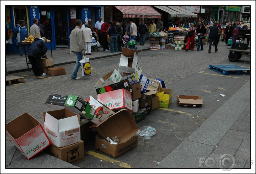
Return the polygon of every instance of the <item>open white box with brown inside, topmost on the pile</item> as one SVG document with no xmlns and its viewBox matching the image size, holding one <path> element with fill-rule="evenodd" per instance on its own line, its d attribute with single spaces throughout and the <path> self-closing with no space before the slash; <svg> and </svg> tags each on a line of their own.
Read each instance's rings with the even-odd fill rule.
<svg viewBox="0 0 256 174">
<path fill-rule="evenodd" d="M 137 50 L 123 48 L 118 71 L 134 73 L 137 66 L 137 55 Z"/>
</svg>

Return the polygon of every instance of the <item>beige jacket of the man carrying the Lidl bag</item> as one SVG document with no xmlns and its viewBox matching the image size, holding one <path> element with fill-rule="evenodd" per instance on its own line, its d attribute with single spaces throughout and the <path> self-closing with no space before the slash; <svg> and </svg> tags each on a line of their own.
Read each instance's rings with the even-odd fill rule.
<svg viewBox="0 0 256 174">
<path fill-rule="evenodd" d="M 72 32 L 70 33 L 70 51 L 73 52 L 82 52 L 82 54 L 85 54 L 85 39 L 83 31 L 76 26 Z"/>
</svg>

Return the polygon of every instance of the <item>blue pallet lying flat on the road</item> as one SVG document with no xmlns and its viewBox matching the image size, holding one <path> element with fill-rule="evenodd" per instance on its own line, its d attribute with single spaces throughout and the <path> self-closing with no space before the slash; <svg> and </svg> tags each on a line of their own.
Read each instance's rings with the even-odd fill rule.
<svg viewBox="0 0 256 174">
<path fill-rule="evenodd" d="M 248 75 L 251 74 L 251 69 L 243 68 L 233 64 L 226 65 L 209 65 L 209 69 L 224 75 Z"/>
</svg>

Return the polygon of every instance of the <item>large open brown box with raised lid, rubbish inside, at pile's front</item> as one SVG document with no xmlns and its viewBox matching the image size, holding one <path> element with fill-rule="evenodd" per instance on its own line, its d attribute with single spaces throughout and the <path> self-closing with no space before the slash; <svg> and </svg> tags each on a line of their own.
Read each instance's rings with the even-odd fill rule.
<svg viewBox="0 0 256 174">
<path fill-rule="evenodd" d="M 95 129 L 103 138 L 96 136 L 95 148 L 115 158 L 135 148 L 138 144 L 138 137 L 135 134 L 139 128 L 134 117 L 127 110 L 116 112 L 107 120 L 98 124 Z M 119 144 L 110 144 L 106 141 L 107 137 L 115 136 L 119 137 Z M 105 145 L 105 148 L 102 144 Z"/>
</svg>

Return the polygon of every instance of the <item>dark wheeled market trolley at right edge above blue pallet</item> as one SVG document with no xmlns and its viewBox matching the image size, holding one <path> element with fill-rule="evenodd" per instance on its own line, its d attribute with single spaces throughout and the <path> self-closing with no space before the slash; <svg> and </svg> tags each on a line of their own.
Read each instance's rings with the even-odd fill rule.
<svg viewBox="0 0 256 174">
<path fill-rule="evenodd" d="M 241 38 L 241 37 L 250 38 L 250 34 L 248 34 L 248 33 L 250 33 L 250 30 L 239 29 L 239 38 Z M 233 35 L 231 48 L 230 48 L 230 50 L 228 50 L 229 51 L 228 59 L 231 62 L 236 62 L 239 59 L 241 59 L 242 53 L 251 54 L 251 49 L 247 49 L 248 44 L 244 43 L 245 40 L 243 40 L 243 43 L 233 43 L 234 39 L 235 39 L 235 35 Z"/>
</svg>

